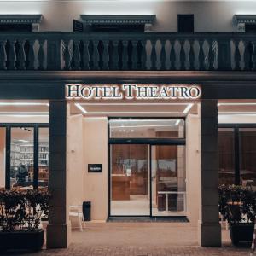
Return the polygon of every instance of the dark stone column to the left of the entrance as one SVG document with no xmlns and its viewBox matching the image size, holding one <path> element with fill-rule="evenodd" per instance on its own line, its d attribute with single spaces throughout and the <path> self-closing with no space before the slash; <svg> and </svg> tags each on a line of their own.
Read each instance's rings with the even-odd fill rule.
<svg viewBox="0 0 256 256">
<path fill-rule="evenodd" d="M 66 248 L 68 245 L 66 136 L 66 101 L 50 101 L 49 192 L 52 198 L 47 227 L 47 248 Z"/>
</svg>

